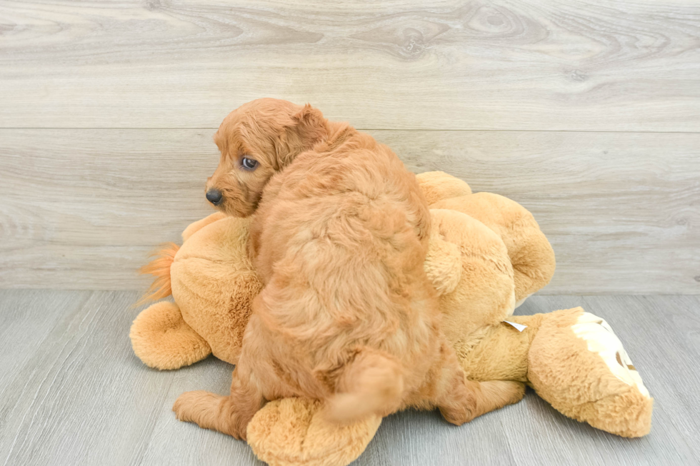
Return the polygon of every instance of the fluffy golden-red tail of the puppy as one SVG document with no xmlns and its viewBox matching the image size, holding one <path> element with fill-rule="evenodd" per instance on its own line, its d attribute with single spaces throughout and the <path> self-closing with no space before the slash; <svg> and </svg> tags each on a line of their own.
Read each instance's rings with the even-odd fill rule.
<svg viewBox="0 0 700 466">
<path fill-rule="evenodd" d="M 399 360 L 383 351 L 362 348 L 343 368 L 336 393 L 328 400 L 326 418 L 344 424 L 369 415 L 389 415 L 401 407 L 403 392 Z"/>
</svg>

